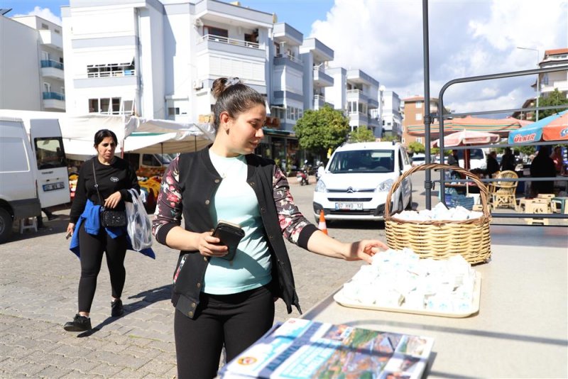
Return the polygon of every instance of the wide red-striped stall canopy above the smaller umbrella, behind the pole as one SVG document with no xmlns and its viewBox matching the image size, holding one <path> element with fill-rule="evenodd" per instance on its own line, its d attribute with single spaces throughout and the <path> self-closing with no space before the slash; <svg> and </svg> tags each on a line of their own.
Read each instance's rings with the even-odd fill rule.
<svg viewBox="0 0 568 379">
<path fill-rule="evenodd" d="M 462 131 L 480 131 L 486 133 L 495 133 L 499 136 L 506 137 L 510 131 L 514 131 L 523 126 L 525 121 L 507 117 L 506 119 L 481 119 L 480 117 L 466 116 L 456 119 L 448 119 L 444 121 L 444 135 Z M 409 125 L 408 133 L 412 136 L 425 136 L 424 123 L 418 125 Z M 430 126 L 432 136 L 439 135 L 439 123 L 432 123 Z"/>
</svg>

